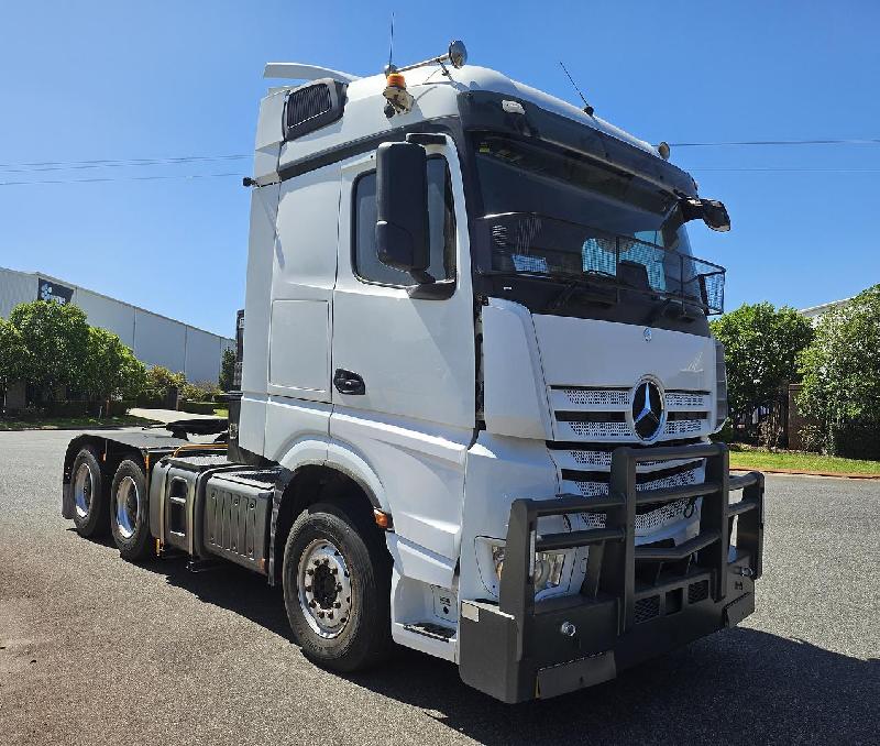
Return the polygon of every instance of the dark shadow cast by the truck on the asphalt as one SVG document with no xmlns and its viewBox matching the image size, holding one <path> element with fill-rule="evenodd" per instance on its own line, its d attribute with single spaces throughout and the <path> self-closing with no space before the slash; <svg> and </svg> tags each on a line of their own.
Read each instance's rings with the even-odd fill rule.
<svg viewBox="0 0 880 746">
<path fill-rule="evenodd" d="M 292 640 L 280 591 L 246 570 L 193 573 L 184 559 L 144 569 Z M 877 743 L 880 701 L 880 660 L 748 627 L 697 640 L 592 689 L 519 705 L 466 687 L 452 663 L 404 648 L 349 680 L 487 744 Z"/>
</svg>

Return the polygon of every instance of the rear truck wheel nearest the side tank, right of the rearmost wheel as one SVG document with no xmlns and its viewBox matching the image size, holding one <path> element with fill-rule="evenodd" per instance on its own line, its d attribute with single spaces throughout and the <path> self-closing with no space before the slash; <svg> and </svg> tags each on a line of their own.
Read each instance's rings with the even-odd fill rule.
<svg viewBox="0 0 880 746">
<path fill-rule="evenodd" d="M 139 462 L 125 459 L 110 487 L 110 530 L 120 556 L 131 562 L 155 556 L 146 501 L 144 469 Z"/>
</svg>

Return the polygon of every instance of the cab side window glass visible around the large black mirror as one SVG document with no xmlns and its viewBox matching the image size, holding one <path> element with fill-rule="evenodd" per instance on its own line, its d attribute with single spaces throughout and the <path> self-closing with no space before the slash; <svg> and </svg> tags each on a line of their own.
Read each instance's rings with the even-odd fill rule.
<svg viewBox="0 0 880 746">
<path fill-rule="evenodd" d="M 428 158 L 428 221 L 431 264 L 435 279 L 455 276 L 455 211 L 452 182 L 446 158 Z M 389 267 L 376 253 L 376 172 L 371 171 L 354 184 L 354 273 L 364 282 L 407 287 L 415 285 L 408 272 Z"/>
</svg>

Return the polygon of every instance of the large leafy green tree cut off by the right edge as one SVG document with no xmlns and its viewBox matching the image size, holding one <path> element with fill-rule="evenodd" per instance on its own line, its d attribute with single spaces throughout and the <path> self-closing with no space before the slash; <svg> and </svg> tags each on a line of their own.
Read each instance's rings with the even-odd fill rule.
<svg viewBox="0 0 880 746">
<path fill-rule="evenodd" d="M 799 364 L 798 404 L 821 423 L 827 448 L 846 423 L 880 427 L 880 285 L 825 312 Z"/>
</svg>

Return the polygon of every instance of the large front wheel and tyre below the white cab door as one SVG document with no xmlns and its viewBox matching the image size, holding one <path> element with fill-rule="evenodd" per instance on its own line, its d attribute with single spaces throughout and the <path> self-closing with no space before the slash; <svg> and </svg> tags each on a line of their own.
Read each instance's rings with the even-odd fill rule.
<svg viewBox="0 0 880 746">
<path fill-rule="evenodd" d="M 369 511 L 316 503 L 294 522 L 284 549 L 287 618 L 314 662 L 351 673 L 391 649 L 391 556 Z"/>
</svg>

